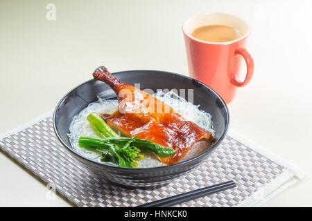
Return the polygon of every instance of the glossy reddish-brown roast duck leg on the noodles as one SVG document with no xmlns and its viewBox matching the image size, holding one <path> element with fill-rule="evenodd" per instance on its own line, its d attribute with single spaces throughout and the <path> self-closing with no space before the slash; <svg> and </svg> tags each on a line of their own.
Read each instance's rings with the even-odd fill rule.
<svg viewBox="0 0 312 221">
<path fill-rule="evenodd" d="M 119 81 L 107 68 L 97 68 L 93 76 L 108 84 L 119 99 L 119 110 L 109 117 L 103 115 L 107 124 L 123 135 L 137 136 L 175 149 L 173 156 L 159 157 L 164 164 L 179 162 L 200 140 L 209 144 L 214 141 L 211 133 L 187 121 L 152 95 Z"/>
</svg>

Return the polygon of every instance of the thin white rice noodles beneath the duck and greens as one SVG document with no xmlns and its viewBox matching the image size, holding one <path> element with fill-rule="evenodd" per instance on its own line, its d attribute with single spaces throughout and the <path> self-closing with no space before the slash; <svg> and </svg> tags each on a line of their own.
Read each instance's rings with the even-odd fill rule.
<svg viewBox="0 0 312 221">
<path fill-rule="evenodd" d="M 177 111 L 180 115 L 185 117 L 191 122 L 194 122 L 198 126 L 204 128 L 206 131 L 214 133 L 211 122 L 211 115 L 205 111 L 200 111 L 199 105 L 193 105 L 191 102 L 187 102 L 186 99 L 178 96 L 173 90 L 168 93 L 158 91 L 154 96 L 171 106 L 173 110 Z M 118 109 L 118 101 L 112 99 L 103 99 L 98 97 L 96 102 L 90 103 L 83 111 L 80 111 L 78 115 L 73 117 L 71 125 L 69 126 L 69 140 L 73 149 L 81 155 L 98 162 L 101 162 L 101 155 L 92 151 L 87 151 L 85 148 L 80 148 L 78 145 L 78 138 L 80 136 L 85 137 L 98 137 L 94 133 L 92 126 L 87 121 L 87 116 L 90 113 L 114 113 Z M 145 159 L 139 160 L 138 167 L 155 167 L 164 166 L 166 164 L 160 162 L 153 154 L 144 154 Z"/>
</svg>

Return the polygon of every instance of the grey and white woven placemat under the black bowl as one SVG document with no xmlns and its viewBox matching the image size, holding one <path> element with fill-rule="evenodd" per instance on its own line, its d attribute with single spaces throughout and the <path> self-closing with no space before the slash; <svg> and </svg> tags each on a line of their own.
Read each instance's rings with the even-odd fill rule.
<svg viewBox="0 0 312 221">
<path fill-rule="evenodd" d="M 234 180 L 236 188 L 177 206 L 239 206 L 253 199 L 245 204 L 250 206 L 269 194 L 263 191 L 266 186 L 272 192 L 272 183 L 283 184 L 295 174 L 227 135 L 204 164 L 167 186 L 153 191 L 123 189 L 96 177 L 67 153 L 55 136 L 51 115 L 3 137 L 0 148 L 77 206 L 137 206 L 227 180 Z"/>
</svg>

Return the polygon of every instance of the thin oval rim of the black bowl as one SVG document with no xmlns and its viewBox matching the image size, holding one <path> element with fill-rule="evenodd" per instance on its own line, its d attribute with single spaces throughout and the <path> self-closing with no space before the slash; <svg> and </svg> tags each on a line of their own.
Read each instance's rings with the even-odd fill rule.
<svg viewBox="0 0 312 221">
<path fill-rule="evenodd" d="M 198 81 L 197 79 L 193 79 L 192 77 L 186 76 L 186 75 L 181 75 L 181 74 L 177 74 L 177 73 L 172 73 L 172 72 L 168 72 L 165 70 L 123 70 L 123 71 L 119 71 L 116 73 L 112 73 L 112 75 L 117 75 L 117 74 L 121 74 L 121 73 L 128 73 L 128 72 L 158 72 L 158 73 L 165 73 L 165 74 L 170 74 L 170 75 L 177 75 L 179 77 L 184 77 L 187 79 L 190 79 L 192 81 L 196 81 L 196 83 L 201 84 L 202 86 L 205 86 L 207 88 L 209 88 L 211 90 L 212 93 L 214 93 L 216 95 L 216 97 L 218 97 L 218 99 L 220 99 L 220 101 L 222 102 L 223 106 L 225 106 L 225 113 L 227 115 L 227 124 L 225 125 L 225 130 L 223 131 L 223 134 L 220 136 L 220 139 L 215 142 L 214 144 L 211 145 L 210 148 L 208 148 L 206 151 L 203 151 L 202 153 L 196 155 L 195 157 L 191 157 L 189 160 L 184 160 L 182 162 L 177 162 L 175 164 L 170 164 L 170 165 L 165 165 L 165 166 L 155 166 L 155 167 L 121 167 L 121 166 L 114 166 L 114 165 L 108 165 L 105 164 L 103 162 L 97 162 L 95 160 L 91 160 L 87 157 L 85 157 L 84 155 L 80 155 L 80 153 L 77 153 L 76 151 L 73 150 L 73 148 L 69 145 L 67 145 L 63 140 L 62 137 L 60 137 L 60 134 L 58 133 L 58 130 L 56 128 L 55 125 L 55 115 L 58 111 L 58 108 L 60 107 L 60 104 L 62 104 L 62 102 L 64 101 L 64 99 L 67 98 L 67 96 L 73 91 L 76 90 L 76 88 L 82 86 L 83 84 L 87 84 L 89 81 L 94 81 L 96 79 L 89 79 L 88 81 L 83 82 L 82 84 L 79 84 L 78 86 L 76 86 L 75 88 L 69 90 L 68 93 L 66 93 L 66 95 L 64 95 L 62 97 L 62 99 L 60 99 L 60 102 L 58 102 L 57 106 L 55 107 L 55 110 L 53 111 L 53 130 L 55 132 L 56 137 L 58 137 L 58 140 L 61 142 L 61 144 L 67 148 L 67 150 L 69 150 L 71 153 L 73 153 L 74 155 L 83 158 L 83 160 L 87 160 L 88 162 L 91 162 L 92 164 L 98 164 L 99 166 L 107 166 L 107 168 L 111 168 L 111 169 L 116 169 L 116 170 L 121 170 L 121 171 L 154 171 L 154 170 L 159 170 L 159 169 L 173 169 L 177 166 L 183 166 L 183 165 L 187 165 L 187 164 L 191 164 L 191 162 L 196 161 L 202 157 L 205 157 L 205 155 L 209 154 L 211 151 L 213 151 L 219 144 L 220 142 L 222 142 L 222 140 L 224 139 L 225 135 L 227 134 L 227 131 L 229 129 L 229 110 L 227 108 L 227 104 L 225 104 L 224 100 L 222 99 L 222 97 L 220 97 L 220 95 L 218 95 L 218 93 L 216 93 L 216 91 L 214 91 L 212 88 L 210 88 L 209 86 L 207 86 L 206 84 Z"/>
</svg>

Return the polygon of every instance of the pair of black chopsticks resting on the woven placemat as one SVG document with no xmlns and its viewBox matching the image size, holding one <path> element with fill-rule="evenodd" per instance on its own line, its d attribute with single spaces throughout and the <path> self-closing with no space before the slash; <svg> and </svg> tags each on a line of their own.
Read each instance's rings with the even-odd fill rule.
<svg viewBox="0 0 312 221">
<path fill-rule="evenodd" d="M 187 193 L 181 193 L 178 195 L 173 195 L 169 198 L 164 198 L 162 200 L 157 200 L 154 202 L 149 202 L 146 204 L 141 204 L 137 207 L 166 207 L 173 206 L 176 204 L 180 204 L 182 202 L 187 202 L 189 200 L 194 200 L 197 198 L 201 198 L 205 195 L 210 195 L 212 193 L 218 193 L 220 191 L 225 191 L 226 189 L 231 189 L 235 187 L 236 184 L 233 180 L 223 182 L 220 184 L 215 184 L 212 186 L 207 186 L 201 189 L 196 189 L 195 191 L 189 191 Z"/>
</svg>

